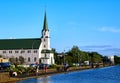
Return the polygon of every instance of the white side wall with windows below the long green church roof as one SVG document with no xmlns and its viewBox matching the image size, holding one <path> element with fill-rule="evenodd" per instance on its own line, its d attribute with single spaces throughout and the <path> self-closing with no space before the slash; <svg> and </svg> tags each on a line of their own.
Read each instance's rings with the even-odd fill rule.
<svg viewBox="0 0 120 83">
<path fill-rule="evenodd" d="M 6 52 L 6 53 L 3 53 Z M 0 50 L 0 55 L 3 55 L 5 58 L 19 58 L 19 56 L 24 57 L 26 64 L 39 63 L 39 50 L 38 49 L 25 49 L 25 50 Z M 30 58 L 30 61 L 28 61 Z M 34 59 L 36 58 L 36 61 Z"/>
</svg>

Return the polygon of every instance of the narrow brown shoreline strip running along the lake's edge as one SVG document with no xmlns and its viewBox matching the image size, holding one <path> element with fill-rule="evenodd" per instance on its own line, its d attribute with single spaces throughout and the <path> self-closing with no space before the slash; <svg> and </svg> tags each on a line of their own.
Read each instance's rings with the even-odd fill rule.
<svg viewBox="0 0 120 83">
<path fill-rule="evenodd" d="M 105 66 L 109 67 L 109 66 Z M 103 66 L 100 66 L 99 68 L 103 68 Z M 45 73 L 44 70 L 39 70 L 38 75 L 28 75 L 28 76 L 17 76 L 17 77 L 9 77 L 8 80 L 3 80 L 0 81 L 0 83 L 14 83 L 17 81 L 29 79 L 29 78 L 41 78 L 41 77 L 46 77 L 46 76 L 52 76 L 56 74 L 62 74 L 62 73 L 70 73 L 70 72 L 75 72 L 75 71 L 82 71 L 82 70 L 88 70 L 88 69 L 95 69 L 91 68 L 90 66 L 85 66 L 85 67 L 71 67 L 67 72 L 58 72 L 56 69 L 48 69 L 48 71 Z"/>
</svg>

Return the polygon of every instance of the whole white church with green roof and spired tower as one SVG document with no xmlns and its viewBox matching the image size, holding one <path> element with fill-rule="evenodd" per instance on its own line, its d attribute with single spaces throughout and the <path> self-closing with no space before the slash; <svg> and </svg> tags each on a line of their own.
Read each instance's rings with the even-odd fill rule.
<svg viewBox="0 0 120 83">
<path fill-rule="evenodd" d="M 0 55 L 7 58 L 19 58 L 19 56 L 22 56 L 26 64 L 54 64 L 54 55 L 50 48 L 50 34 L 46 12 L 44 15 L 41 38 L 1 39 Z"/>
</svg>

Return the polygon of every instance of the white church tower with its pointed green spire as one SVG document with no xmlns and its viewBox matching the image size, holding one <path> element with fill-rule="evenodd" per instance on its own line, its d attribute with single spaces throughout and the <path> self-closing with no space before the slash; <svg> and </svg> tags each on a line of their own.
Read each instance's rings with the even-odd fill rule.
<svg viewBox="0 0 120 83">
<path fill-rule="evenodd" d="M 41 37 L 41 63 L 54 64 L 54 56 L 50 48 L 50 33 L 48 29 L 46 11 L 44 15 L 44 23 Z"/>
</svg>

